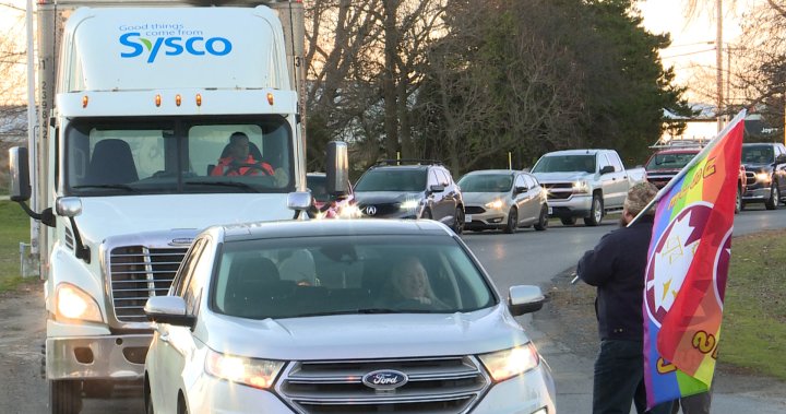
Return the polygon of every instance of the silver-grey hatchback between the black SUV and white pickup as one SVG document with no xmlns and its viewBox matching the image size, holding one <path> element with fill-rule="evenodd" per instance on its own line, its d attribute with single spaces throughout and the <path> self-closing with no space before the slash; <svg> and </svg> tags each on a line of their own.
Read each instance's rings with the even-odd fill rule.
<svg viewBox="0 0 786 414">
<path fill-rule="evenodd" d="M 546 192 L 535 176 L 510 169 L 472 171 L 458 180 L 464 196 L 464 228 L 501 228 L 514 233 L 522 226 L 548 228 Z"/>
</svg>

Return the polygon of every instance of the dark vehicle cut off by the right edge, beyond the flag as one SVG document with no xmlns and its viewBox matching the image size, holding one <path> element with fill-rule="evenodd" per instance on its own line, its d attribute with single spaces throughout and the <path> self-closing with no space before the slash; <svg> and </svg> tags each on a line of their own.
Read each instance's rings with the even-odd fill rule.
<svg viewBox="0 0 786 414">
<path fill-rule="evenodd" d="M 764 203 L 775 210 L 786 194 L 786 147 L 779 142 L 742 144 L 742 165 L 748 188 L 742 194 L 742 208 L 749 203 Z"/>
</svg>

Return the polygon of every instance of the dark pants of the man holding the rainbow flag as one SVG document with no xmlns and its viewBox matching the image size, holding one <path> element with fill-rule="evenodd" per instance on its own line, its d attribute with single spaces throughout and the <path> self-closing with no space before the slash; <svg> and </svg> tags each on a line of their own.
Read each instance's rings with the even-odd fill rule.
<svg viewBox="0 0 786 414">
<path fill-rule="evenodd" d="M 639 390 L 639 392 L 636 392 Z M 593 414 L 644 413 L 644 354 L 641 341 L 606 340 L 595 360 Z M 658 404 L 648 413 L 670 414 L 671 402 Z"/>
</svg>

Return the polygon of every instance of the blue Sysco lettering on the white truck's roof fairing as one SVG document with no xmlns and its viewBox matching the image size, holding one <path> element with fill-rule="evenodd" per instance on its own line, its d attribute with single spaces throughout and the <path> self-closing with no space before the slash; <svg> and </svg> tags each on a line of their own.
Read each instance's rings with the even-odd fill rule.
<svg viewBox="0 0 786 414">
<path fill-rule="evenodd" d="M 194 56 L 202 56 L 210 54 L 213 56 L 225 56 L 231 51 L 231 42 L 224 37 L 211 37 L 205 39 L 201 36 L 192 37 L 156 37 L 151 39 L 144 38 L 139 32 L 126 33 L 120 36 L 120 44 L 128 46 L 131 49 L 123 51 L 120 57 L 123 58 L 135 58 L 142 55 L 145 49 L 150 52 L 147 56 L 147 63 L 153 63 L 159 54 L 166 56 L 178 56 L 182 52 L 191 54 Z"/>
</svg>

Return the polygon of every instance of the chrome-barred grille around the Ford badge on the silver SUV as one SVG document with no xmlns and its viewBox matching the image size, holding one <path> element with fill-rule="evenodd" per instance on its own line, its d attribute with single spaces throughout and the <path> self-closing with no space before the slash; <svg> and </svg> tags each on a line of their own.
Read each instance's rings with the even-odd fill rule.
<svg viewBox="0 0 786 414">
<path fill-rule="evenodd" d="M 380 369 L 404 372 L 408 381 L 377 391 L 362 377 Z M 298 411 L 321 413 L 466 413 L 490 381 L 471 356 L 418 359 L 298 362 L 278 380 L 277 391 Z"/>
</svg>

